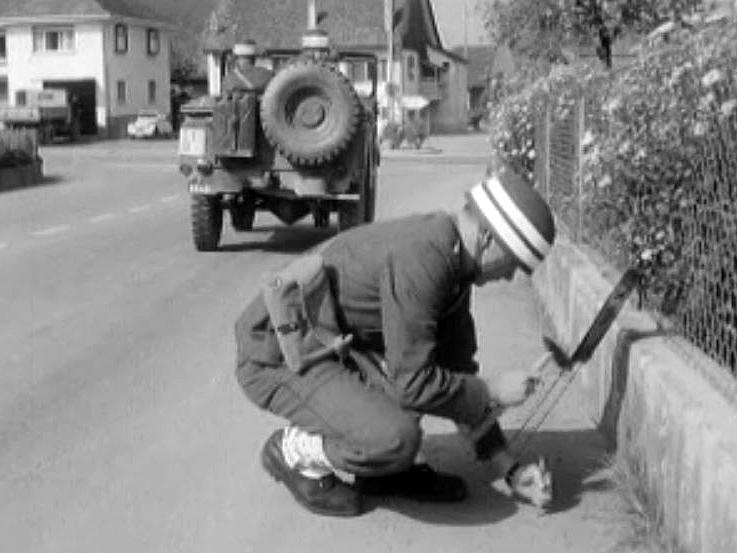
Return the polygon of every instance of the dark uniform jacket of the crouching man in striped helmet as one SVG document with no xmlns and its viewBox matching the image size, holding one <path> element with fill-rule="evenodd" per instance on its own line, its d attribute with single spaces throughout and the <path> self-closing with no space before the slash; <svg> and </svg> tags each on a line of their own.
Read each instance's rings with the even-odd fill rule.
<svg viewBox="0 0 737 553">
<path fill-rule="evenodd" d="M 346 331 L 385 359 L 401 406 L 476 424 L 488 396 L 477 371 L 471 282 L 445 213 L 414 215 L 339 234 L 324 250 Z"/>
</svg>

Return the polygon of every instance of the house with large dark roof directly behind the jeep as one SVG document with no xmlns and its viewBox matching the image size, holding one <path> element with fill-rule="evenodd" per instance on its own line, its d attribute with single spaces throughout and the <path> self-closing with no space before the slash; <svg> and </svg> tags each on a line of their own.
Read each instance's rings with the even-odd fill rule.
<svg viewBox="0 0 737 553">
<path fill-rule="evenodd" d="M 308 25 L 307 5 L 305 0 L 221 0 L 205 35 L 211 90 L 217 91 L 221 53 L 239 40 L 255 40 L 263 49 L 299 48 Z M 378 57 L 385 116 L 391 103 L 405 112 L 423 112 L 431 131 L 465 126 L 466 62 L 443 48 L 430 0 L 317 0 L 316 9 L 319 28 L 334 47 Z M 393 64 L 388 61 L 390 27 Z M 387 90 L 398 91 L 400 101 L 390 102 Z"/>
</svg>

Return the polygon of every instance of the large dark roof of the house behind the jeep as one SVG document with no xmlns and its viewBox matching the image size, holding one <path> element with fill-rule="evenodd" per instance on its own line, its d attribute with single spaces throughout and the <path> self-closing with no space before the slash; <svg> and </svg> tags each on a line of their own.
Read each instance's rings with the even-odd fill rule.
<svg viewBox="0 0 737 553">
<path fill-rule="evenodd" d="M 228 4 L 232 15 L 222 8 Z M 318 0 L 317 11 L 327 12 L 319 26 L 335 45 L 376 47 L 387 42 L 381 0 Z M 394 24 L 404 48 L 417 50 L 421 58 L 426 58 L 428 45 L 442 50 L 430 0 L 395 0 Z M 305 0 L 223 0 L 213 12 L 205 47 L 225 49 L 252 39 L 262 48 L 299 48 L 306 26 Z"/>
</svg>

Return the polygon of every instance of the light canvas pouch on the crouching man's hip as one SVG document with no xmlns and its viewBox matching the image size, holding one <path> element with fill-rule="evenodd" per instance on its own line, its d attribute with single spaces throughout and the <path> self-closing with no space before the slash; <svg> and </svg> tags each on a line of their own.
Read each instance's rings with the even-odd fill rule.
<svg viewBox="0 0 737 553">
<path fill-rule="evenodd" d="M 343 358 L 353 336 L 338 323 L 335 298 L 319 255 L 301 257 L 262 289 L 284 362 L 296 373 L 330 357 Z"/>
</svg>

